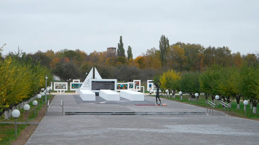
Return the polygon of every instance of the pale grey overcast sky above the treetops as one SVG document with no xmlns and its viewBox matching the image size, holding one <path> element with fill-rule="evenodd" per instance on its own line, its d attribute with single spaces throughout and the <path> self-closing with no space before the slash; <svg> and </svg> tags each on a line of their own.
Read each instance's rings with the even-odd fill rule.
<svg viewBox="0 0 259 145">
<path fill-rule="evenodd" d="M 228 46 L 232 52 L 259 51 L 259 1 L 238 0 L 8 0 L 0 1 L 3 54 L 17 51 L 86 53 L 118 47 L 133 58 L 153 47 L 161 35 L 204 47 Z"/>
</svg>

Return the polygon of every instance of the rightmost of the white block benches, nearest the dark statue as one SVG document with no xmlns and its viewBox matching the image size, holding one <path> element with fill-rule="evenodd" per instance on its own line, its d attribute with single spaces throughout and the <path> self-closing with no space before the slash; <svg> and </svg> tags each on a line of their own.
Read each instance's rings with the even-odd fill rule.
<svg viewBox="0 0 259 145">
<path fill-rule="evenodd" d="M 144 94 L 140 92 L 135 92 L 133 90 L 120 90 L 120 97 L 132 101 L 144 101 Z"/>
</svg>

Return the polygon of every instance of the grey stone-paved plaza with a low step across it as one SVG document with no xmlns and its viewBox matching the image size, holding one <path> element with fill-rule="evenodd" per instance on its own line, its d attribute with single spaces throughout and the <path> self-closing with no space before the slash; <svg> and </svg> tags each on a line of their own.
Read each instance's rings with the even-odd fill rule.
<svg viewBox="0 0 259 145">
<path fill-rule="evenodd" d="M 26 145 L 43 144 L 259 144 L 259 122 L 214 111 L 213 115 L 66 115 L 64 112 L 207 112 L 206 108 L 167 99 L 167 106 L 145 101 L 82 101 L 56 95 Z"/>
</svg>

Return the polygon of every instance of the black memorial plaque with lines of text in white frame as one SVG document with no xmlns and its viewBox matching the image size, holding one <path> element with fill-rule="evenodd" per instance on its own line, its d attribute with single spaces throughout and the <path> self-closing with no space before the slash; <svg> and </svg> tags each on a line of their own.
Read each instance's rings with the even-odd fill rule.
<svg viewBox="0 0 259 145">
<path fill-rule="evenodd" d="M 110 89 L 114 90 L 115 81 L 92 81 L 92 90 Z"/>
</svg>

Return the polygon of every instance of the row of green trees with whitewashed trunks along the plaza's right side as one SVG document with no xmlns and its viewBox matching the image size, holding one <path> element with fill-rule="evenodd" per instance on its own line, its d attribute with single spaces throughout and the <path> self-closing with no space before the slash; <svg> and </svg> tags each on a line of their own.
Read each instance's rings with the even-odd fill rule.
<svg viewBox="0 0 259 145">
<path fill-rule="evenodd" d="M 203 93 L 207 103 L 209 97 L 214 100 L 215 96 L 219 95 L 230 108 L 231 101 L 236 99 L 237 109 L 240 99 L 243 98 L 250 101 L 254 107 L 253 113 L 256 114 L 259 102 L 259 64 L 240 67 L 213 65 L 203 72 L 181 73 L 171 69 L 154 78 L 158 79 L 161 81 L 161 90 L 165 92 L 165 89 L 169 89 L 169 94 L 172 93 L 173 97 L 176 91 L 182 91 L 194 101 L 195 93 L 199 96 Z"/>
</svg>

